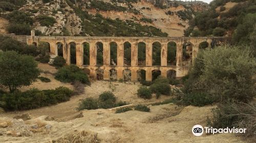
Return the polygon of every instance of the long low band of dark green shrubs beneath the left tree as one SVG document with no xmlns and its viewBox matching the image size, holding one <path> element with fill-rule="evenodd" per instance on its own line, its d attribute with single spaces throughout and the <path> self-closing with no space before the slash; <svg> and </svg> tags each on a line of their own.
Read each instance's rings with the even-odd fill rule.
<svg viewBox="0 0 256 143">
<path fill-rule="evenodd" d="M 72 90 L 67 87 L 58 87 L 55 90 L 30 89 L 24 92 L 16 90 L 0 97 L 4 102 L 2 108 L 8 111 L 29 110 L 65 102 L 72 96 Z"/>
</svg>

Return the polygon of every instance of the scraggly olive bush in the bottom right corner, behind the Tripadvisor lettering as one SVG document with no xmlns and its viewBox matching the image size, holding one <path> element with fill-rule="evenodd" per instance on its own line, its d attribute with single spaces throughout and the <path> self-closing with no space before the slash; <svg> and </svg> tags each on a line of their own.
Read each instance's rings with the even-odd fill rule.
<svg viewBox="0 0 256 143">
<path fill-rule="evenodd" d="M 218 108 L 212 110 L 214 116 L 208 125 L 214 128 L 245 128 L 246 132 L 242 134 L 251 142 L 256 141 L 256 103 L 231 102 L 218 105 Z"/>
</svg>

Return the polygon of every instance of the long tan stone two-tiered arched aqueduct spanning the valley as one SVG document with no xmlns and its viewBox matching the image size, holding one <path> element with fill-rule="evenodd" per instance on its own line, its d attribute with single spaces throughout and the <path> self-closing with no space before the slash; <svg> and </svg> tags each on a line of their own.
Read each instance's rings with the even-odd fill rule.
<svg viewBox="0 0 256 143">
<path fill-rule="evenodd" d="M 123 79 L 125 70 L 131 70 L 131 81 L 138 80 L 138 71 L 145 71 L 145 80 L 152 81 L 152 72 L 158 70 L 161 76 L 167 77 L 168 71 L 175 71 L 177 78 L 183 77 L 187 74 L 188 69 L 193 59 L 197 56 L 200 43 L 204 42 L 208 47 L 215 43 L 227 43 L 230 37 L 81 37 L 81 36 L 35 36 L 31 32 L 31 36 L 27 36 L 27 44 L 38 45 L 39 42 L 48 42 L 50 45 L 50 53 L 56 56 L 63 56 L 67 64 L 71 63 L 71 45 L 75 45 L 75 60 L 76 65 L 90 70 L 90 76 L 96 78 L 97 70 L 103 70 L 103 79 L 110 80 L 110 71 L 116 70 L 117 79 Z M 175 43 L 176 56 L 174 57 L 175 63 L 168 64 L 167 59 L 169 43 Z M 112 59 L 110 56 L 111 44 L 117 46 L 117 63 L 111 65 Z M 138 60 L 138 44 L 145 46 L 145 63 L 139 64 Z M 160 46 L 160 64 L 153 65 L 153 48 L 154 44 L 158 43 Z M 184 50 L 184 45 L 189 43 L 188 47 Z M 84 63 L 84 44 L 89 45 L 89 61 Z M 103 64 L 97 64 L 97 48 L 98 44 L 102 46 Z M 124 64 L 124 49 L 125 44 L 130 45 L 131 49 L 131 64 Z M 59 49 L 59 45 L 62 49 Z M 188 51 L 188 52 L 187 52 Z M 186 52 L 186 53 L 184 53 Z M 184 63 L 183 54 L 190 56 L 190 60 Z M 189 58 L 188 58 L 189 59 Z"/>
</svg>

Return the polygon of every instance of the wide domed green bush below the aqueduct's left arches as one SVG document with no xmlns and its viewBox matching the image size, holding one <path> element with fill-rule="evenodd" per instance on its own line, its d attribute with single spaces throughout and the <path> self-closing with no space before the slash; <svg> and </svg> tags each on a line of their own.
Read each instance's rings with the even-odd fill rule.
<svg viewBox="0 0 256 143">
<path fill-rule="evenodd" d="M 87 74 L 74 64 L 61 67 L 55 74 L 55 79 L 61 82 L 80 81 L 84 84 L 90 84 Z"/>
</svg>

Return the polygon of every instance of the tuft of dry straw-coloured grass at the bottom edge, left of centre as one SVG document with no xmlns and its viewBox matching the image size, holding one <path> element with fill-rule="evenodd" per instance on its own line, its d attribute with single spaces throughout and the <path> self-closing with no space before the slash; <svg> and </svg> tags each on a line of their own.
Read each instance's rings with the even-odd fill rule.
<svg viewBox="0 0 256 143">
<path fill-rule="evenodd" d="M 52 140 L 51 142 L 56 143 L 97 143 L 100 140 L 97 137 L 97 133 L 81 131 L 73 134 L 66 134 L 63 137 L 60 137 L 56 140 Z"/>
</svg>

